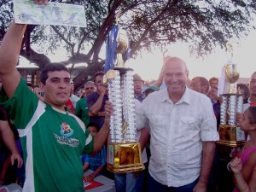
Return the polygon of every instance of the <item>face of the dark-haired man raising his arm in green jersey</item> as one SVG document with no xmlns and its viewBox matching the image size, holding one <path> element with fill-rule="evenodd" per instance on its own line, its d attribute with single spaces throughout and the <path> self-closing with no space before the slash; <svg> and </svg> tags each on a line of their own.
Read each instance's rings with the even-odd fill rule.
<svg viewBox="0 0 256 192">
<path fill-rule="evenodd" d="M 46 102 L 62 109 L 72 90 L 70 74 L 66 71 L 49 72 L 48 79 L 45 84 L 40 84 L 40 89 L 44 92 Z"/>
</svg>

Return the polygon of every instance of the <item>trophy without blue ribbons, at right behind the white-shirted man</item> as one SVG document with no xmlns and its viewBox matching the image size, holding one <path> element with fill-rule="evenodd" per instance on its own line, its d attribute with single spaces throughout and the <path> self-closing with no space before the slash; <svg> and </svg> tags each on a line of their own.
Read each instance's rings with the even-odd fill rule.
<svg viewBox="0 0 256 192">
<path fill-rule="evenodd" d="M 230 44 L 227 48 L 232 50 Z M 238 147 L 243 145 L 245 133 L 241 131 L 240 125 L 236 122 L 236 113 L 242 113 L 243 96 L 236 89 L 236 81 L 239 79 L 239 73 L 236 71 L 236 64 L 230 62 L 224 66 L 225 81 L 229 84 L 227 93 L 221 95 L 220 104 L 220 125 L 218 127 L 219 144 L 229 147 Z"/>
</svg>

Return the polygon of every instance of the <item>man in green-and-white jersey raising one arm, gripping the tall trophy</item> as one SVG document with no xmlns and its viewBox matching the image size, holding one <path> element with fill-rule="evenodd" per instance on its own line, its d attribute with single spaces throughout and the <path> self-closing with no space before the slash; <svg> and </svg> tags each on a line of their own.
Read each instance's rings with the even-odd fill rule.
<svg viewBox="0 0 256 192">
<path fill-rule="evenodd" d="M 113 105 L 106 102 L 104 125 L 92 137 L 84 123 L 65 110 L 72 85 L 70 73 L 61 63 L 50 63 L 42 69 L 39 85 L 44 102 L 40 101 L 16 69 L 25 31 L 26 25 L 13 20 L 0 46 L 0 101 L 18 128 L 26 152 L 23 191 L 84 192 L 80 156 L 96 153 L 106 142 Z"/>
</svg>

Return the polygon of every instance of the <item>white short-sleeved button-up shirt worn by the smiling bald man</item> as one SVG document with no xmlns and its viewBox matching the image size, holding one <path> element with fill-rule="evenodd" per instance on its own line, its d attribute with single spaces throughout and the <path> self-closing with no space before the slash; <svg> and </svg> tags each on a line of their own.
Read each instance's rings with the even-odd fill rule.
<svg viewBox="0 0 256 192">
<path fill-rule="evenodd" d="M 151 93 L 137 110 L 137 127 L 150 126 L 149 173 L 169 187 L 195 181 L 201 171 L 202 142 L 218 141 L 211 100 L 186 88 L 173 103 L 167 90 Z"/>
</svg>

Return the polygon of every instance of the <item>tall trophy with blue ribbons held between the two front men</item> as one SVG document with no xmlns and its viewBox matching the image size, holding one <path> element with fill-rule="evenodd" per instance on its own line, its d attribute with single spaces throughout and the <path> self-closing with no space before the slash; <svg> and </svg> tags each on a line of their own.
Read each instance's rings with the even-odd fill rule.
<svg viewBox="0 0 256 192">
<path fill-rule="evenodd" d="M 108 98 L 113 103 L 110 118 L 110 144 L 108 144 L 108 170 L 110 172 L 137 172 L 145 167 L 140 144 L 137 143 L 135 127 L 135 101 L 133 90 L 133 70 L 125 67 L 123 54 L 128 49 L 125 30 L 117 27 L 117 37 L 113 35 L 110 44 L 116 44 L 114 66 L 108 69 Z M 116 41 L 116 42 L 113 42 Z M 108 55 L 109 56 L 109 55 Z"/>
</svg>

